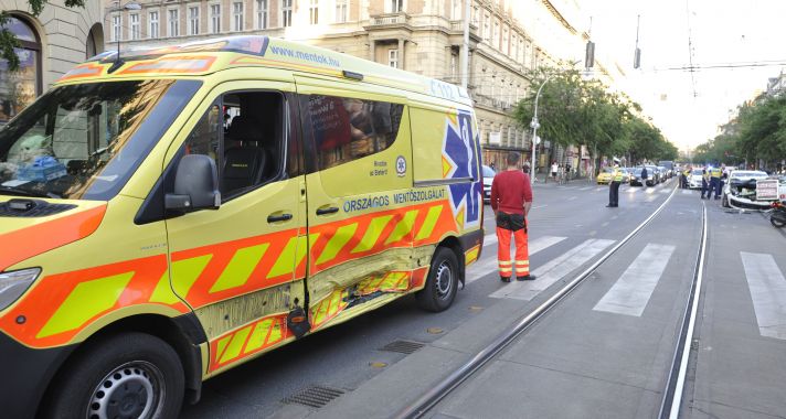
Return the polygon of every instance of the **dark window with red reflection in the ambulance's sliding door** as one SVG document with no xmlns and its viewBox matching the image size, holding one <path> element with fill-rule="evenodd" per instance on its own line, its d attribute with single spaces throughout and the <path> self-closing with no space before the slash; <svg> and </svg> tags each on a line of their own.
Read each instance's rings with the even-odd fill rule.
<svg viewBox="0 0 786 419">
<path fill-rule="evenodd" d="M 404 105 L 311 95 L 311 119 L 319 170 L 383 151 L 399 135 Z"/>
</svg>

